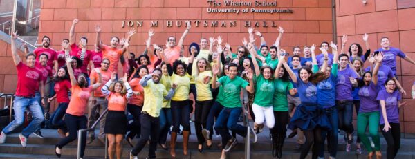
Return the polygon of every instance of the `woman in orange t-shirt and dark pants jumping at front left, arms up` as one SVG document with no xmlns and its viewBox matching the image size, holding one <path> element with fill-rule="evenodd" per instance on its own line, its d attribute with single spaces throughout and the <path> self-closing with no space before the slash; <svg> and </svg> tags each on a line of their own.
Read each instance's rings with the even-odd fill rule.
<svg viewBox="0 0 415 159">
<path fill-rule="evenodd" d="M 71 62 L 73 62 L 73 57 L 66 57 L 66 66 L 68 66 L 68 73 L 71 79 L 72 96 L 65 114 L 65 123 L 69 135 L 66 138 L 60 140 L 55 147 L 56 156 L 59 158 L 61 156 L 62 147 L 64 147 L 69 142 L 76 140 L 78 130 L 86 129 L 87 120 L 85 117 L 85 110 L 86 106 L 88 105 L 88 99 L 91 96 L 91 92 L 102 84 L 102 75 L 99 69 L 96 69 L 95 72 L 98 73 L 100 79 L 92 86 L 88 86 L 88 82 L 86 81 L 87 77 L 84 73 L 81 73 L 79 77 L 75 79 Z M 81 158 L 83 158 L 86 144 L 86 132 L 82 133 L 81 138 Z"/>
</svg>

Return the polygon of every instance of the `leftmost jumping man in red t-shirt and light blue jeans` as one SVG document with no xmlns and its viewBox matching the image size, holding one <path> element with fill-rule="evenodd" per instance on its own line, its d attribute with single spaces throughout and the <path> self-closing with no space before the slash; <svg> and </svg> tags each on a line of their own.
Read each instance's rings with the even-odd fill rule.
<svg viewBox="0 0 415 159">
<path fill-rule="evenodd" d="M 13 101 L 13 109 L 15 110 L 15 120 L 6 126 L 0 135 L 0 144 L 6 140 L 6 135 L 11 133 L 24 122 L 24 111 L 28 109 L 32 113 L 32 121 L 28 126 L 21 131 L 19 139 L 22 147 L 26 147 L 26 142 L 30 134 L 32 134 L 44 121 L 44 115 L 39 103 L 35 99 L 35 89 L 39 83 L 39 90 L 42 96 L 42 104 L 44 102 L 44 83 L 42 82 L 42 73 L 35 68 L 35 55 L 28 53 L 26 55 L 26 64 L 21 62 L 19 55 L 17 55 L 16 42 L 17 32 L 12 32 L 12 57 L 13 62 L 17 68 L 17 88 L 15 93 L 15 100 Z"/>
</svg>

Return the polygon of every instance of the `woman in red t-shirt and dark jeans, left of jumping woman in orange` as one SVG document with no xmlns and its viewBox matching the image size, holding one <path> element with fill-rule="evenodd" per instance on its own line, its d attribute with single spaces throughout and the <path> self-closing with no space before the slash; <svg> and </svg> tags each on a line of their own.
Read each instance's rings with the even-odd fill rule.
<svg viewBox="0 0 415 159">
<path fill-rule="evenodd" d="M 61 135 L 62 138 L 66 137 L 66 126 L 63 120 L 66 109 L 68 109 L 69 105 L 69 92 L 71 91 L 71 81 L 69 80 L 69 74 L 66 67 L 61 67 L 57 71 L 57 75 L 53 79 L 55 82 L 55 86 L 53 89 L 55 90 L 56 94 L 53 97 L 48 99 L 48 103 L 52 102 L 53 100 L 57 100 L 59 106 L 55 110 L 51 117 L 51 122 L 53 127 L 57 127 L 57 133 Z"/>
</svg>

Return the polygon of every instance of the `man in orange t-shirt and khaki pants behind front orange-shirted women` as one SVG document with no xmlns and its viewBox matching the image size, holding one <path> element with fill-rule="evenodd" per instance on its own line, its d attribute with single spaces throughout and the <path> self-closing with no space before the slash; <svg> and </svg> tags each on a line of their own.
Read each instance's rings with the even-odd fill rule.
<svg viewBox="0 0 415 159">
<path fill-rule="evenodd" d="M 99 69 L 102 75 L 102 83 L 107 83 L 111 79 L 111 71 L 109 70 L 110 66 L 109 59 L 102 59 L 101 67 L 95 68 L 91 71 L 91 75 L 89 75 L 91 79 L 91 84 L 98 83 L 99 76 L 98 73 L 96 73 L 96 69 Z M 102 94 L 101 88 L 104 86 L 102 84 L 100 87 L 95 89 L 93 93 L 91 93 L 91 97 L 89 97 L 88 102 L 88 127 L 91 127 L 91 125 L 95 122 L 95 112 L 97 109 L 99 109 L 100 114 L 104 112 L 105 109 L 108 108 L 108 100 L 105 99 L 105 95 Z M 102 116 L 102 119 L 100 121 L 100 134 L 98 134 L 98 140 L 103 141 L 105 143 L 105 134 L 104 134 L 104 127 L 105 127 L 105 118 L 107 115 Z M 95 139 L 95 132 L 89 131 L 88 140 L 86 143 L 91 143 Z"/>
</svg>

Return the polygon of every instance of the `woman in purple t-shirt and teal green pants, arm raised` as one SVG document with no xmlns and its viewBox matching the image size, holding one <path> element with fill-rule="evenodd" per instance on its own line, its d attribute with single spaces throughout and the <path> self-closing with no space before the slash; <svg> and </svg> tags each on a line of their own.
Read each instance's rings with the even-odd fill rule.
<svg viewBox="0 0 415 159">
<path fill-rule="evenodd" d="M 374 72 L 366 71 L 362 75 L 362 79 L 358 81 L 358 95 L 360 98 L 360 109 L 358 113 L 358 137 L 363 142 L 363 145 L 369 152 L 368 158 L 372 158 L 376 152 L 376 158 L 380 158 L 382 153 L 380 152 L 380 138 L 378 135 L 378 124 L 379 124 L 379 103 L 376 100 L 378 95 L 378 71 L 380 62 L 382 62 L 383 55 L 373 54 L 368 58 L 369 62 L 373 63 L 376 61 Z M 366 129 L 369 125 L 369 134 L 374 142 L 375 147 L 371 146 L 371 142 L 366 135 Z"/>
</svg>

